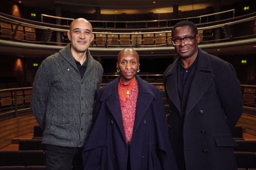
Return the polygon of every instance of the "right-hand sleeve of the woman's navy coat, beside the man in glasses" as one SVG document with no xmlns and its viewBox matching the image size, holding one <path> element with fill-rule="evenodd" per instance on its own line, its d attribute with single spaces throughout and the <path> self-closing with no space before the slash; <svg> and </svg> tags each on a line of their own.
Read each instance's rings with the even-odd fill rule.
<svg viewBox="0 0 256 170">
<path fill-rule="evenodd" d="M 157 101 L 157 110 L 159 117 L 159 125 L 163 136 L 164 144 L 166 145 L 167 153 L 166 158 L 163 160 L 163 168 L 164 170 L 178 170 L 176 159 L 173 153 L 173 148 L 171 146 L 169 135 L 168 135 L 168 125 L 166 119 L 166 113 L 164 109 L 164 102 L 162 99 L 161 91 L 159 91 L 156 95 Z"/>
</svg>

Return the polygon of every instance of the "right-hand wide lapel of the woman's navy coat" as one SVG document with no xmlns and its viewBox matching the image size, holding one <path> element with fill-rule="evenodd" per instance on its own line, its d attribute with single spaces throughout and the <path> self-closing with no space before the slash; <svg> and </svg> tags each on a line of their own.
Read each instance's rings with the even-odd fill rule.
<svg viewBox="0 0 256 170">
<path fill-rule="evenodd" d="M 139 85 L 139 93 L 136 103 L 134 132 L 138 128 L 139 123 L 142 121 L 142 118 L 152 103 L 152 100 L 155 98 L 155 95 L 147 82 L 143 81 L 138 75 L 136 75 L 136 80 L 138 81 Z"/>
</svg>

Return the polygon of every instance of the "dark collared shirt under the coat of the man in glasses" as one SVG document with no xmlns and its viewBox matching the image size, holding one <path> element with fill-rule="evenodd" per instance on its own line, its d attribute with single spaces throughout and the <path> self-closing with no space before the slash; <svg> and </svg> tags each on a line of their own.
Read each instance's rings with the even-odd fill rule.
<svg viewBox="0 0 256 170">
<path fill-rule="evenodd" d="M 185 117 L 186 104 L 188 102 L 189 90 L 196 71 L 196 60 L 188 68 L 184 68 L 182 63 L 178 65 L 178 89 L 179 99 L 181 101 L 182 118 Z"/>
</svg>

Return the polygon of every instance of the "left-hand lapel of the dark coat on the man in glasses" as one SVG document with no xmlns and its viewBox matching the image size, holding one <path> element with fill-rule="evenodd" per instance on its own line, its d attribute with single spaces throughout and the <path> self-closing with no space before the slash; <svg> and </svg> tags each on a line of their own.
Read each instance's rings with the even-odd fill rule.
<svg viewBox="0 0 256 170">
<path fill-rule="evenodd" d="M 178 92 L 178 82 L 177 82 L 177 68 L 179 64 L 179 57 L 174 61 L 170 70 L 165 75 L 166 77 L 166 85 L 165 89 L 168 94 L 169 99 L 178 109 L 179 113 L 181 113 L 181 103 L 179 100 L 179 92 Z"/>
</svg>

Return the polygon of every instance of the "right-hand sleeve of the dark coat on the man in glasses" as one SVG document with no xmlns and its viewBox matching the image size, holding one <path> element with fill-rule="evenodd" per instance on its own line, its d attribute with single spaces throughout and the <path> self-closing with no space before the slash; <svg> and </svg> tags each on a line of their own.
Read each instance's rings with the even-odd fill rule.
<svg viewBox="0 0 256 170">
<path fill-rule="evenodd" d="M 221 73 L 217 93 L 228 125 L 232 129 L 242 115 L 243 99 L 240 82 L 237 79 L 234 67 L 230 63 L 226 64 Z"/>
</svg>

